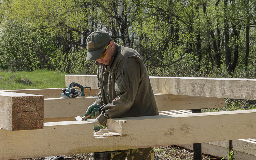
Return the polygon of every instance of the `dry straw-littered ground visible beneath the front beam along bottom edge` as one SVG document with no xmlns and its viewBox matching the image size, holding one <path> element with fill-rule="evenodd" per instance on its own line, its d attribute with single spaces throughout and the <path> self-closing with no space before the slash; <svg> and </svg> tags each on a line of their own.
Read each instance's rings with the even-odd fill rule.
<svg viewBox="0 0 256 160">
<path fill-rule="evenodd" d="M 155 147 L 155 156 L 154 160 L 192 160 L 193 159 L 193 151 L 182 148 L 179 146 L 164 146 L 164 147 Z M 65 155 L 59 157 L 40 157 L 40 158 L 29 158 L 22 160 L 92 160 L 93 153 L 84 153 L 77 155 Z M 221 158 L 204 155 L 202 154 L 202 160 L 220 160 Z"/>
</svg>

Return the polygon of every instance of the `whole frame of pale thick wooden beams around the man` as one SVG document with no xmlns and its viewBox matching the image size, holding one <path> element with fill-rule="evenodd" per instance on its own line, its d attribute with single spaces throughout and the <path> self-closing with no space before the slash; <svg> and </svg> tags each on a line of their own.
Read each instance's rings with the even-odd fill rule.
<svg viewBox="0 0 256 160">
<path fill-rule="evenodd" d="M 224 98 L 256 100 L 254 79 L 150 77 L 150 81 L 159 111 L 220 108 Z M 66 75 L 66 86 L 71 82 L 90 86 L 93 93 L 98 91 L 96 76 Z M 16 97 L 21 93 L 22 97 L 44 96 L 44 103 L 38 104 L 44 108 L 40 117 L 44 117 L 44 128 L 0 129 L 0 160 L 256 137 L 256 110 L 108 119 L 108 130 L 119 134 L 95 136 L 93 124 L 74 121 L 95 97 L 60 99 L 60 88 L 0 92 L 0 101 L 8 99 L 6 94 Z M 1 106 L 0 126 L 11 125 L 5 120 L 6 104 L 13 106 Z"/>
</svg>

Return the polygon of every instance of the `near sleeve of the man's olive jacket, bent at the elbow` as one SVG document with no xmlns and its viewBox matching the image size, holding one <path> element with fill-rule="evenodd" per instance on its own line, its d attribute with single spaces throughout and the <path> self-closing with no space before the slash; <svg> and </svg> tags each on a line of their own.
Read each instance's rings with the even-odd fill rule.
<svg viewBox="0 0 256 160">
<path fill-rule="evenodd" d="M 123 60 L 116 70 L 117 97 L 102 108 L 102 114 L 98 117 L 100 124 L 106 124 L 108 118 L 122 117 L 132 107 L 143 74 L 141 74 L 138 58 L 130 57 Z"/>
</svg>

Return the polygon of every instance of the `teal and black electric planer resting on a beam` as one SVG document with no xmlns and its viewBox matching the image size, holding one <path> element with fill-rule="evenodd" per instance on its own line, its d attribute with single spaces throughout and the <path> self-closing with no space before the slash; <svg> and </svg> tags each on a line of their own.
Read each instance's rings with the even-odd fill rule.
<svg viewBox="0 0 256 160">
<path fill-rule="evenodd" d="M 74 89 L 73 87 L 78 87 L 81 90 Z M 84 94 L 84 89 L 85 88 L 90 88 L 90 93 L 89 93 L 89 95 L 90 95 L 91 94 L 91 87 L 84 87 L 81 84 L 71 82 L 67 89 L 64 88 L 64 89 L 61 90 L 61 92 L 63 92 L 63 93 L 61 93 L 60 98 L 76 98 L 76 97 L 81 97 L 81 96 L 84 97 L 85 96 L 85 94 Z"/>
</svg>

